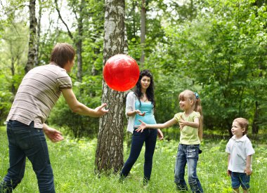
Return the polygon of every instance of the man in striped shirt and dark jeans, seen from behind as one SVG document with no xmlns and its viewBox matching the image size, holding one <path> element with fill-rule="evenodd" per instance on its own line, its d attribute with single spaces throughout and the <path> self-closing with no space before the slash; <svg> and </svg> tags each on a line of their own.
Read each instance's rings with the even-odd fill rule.
<svg viewBox="0 0 267 193">
<path fill-rule="evenodd" d="M 106 104 L 91 109 L 77 100 L 67 72 L 74 65 L 75 51 L 69 44 L 56 44 L 48 65 L 31 69 L 18 88 L 8 114 L 8 173 L 0 184 L 0 192 L 12 192 L 25 172 L 26 157 L 37 175 L 39 192 L 55 192 L 53 171 L 44 133 L 53 142 L 63 140 L 59 131 L 44 122 L 63 93 L 73 112 L 90 117 L 107 113 Z"/>
</svg>

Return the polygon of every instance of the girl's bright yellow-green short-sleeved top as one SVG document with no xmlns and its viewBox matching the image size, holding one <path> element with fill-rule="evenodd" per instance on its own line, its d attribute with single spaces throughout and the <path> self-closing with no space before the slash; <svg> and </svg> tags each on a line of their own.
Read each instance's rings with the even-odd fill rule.
<svg viewBox="0 0 267 193">
<path fill-rule="evenodd" d="M 178 112 L 174 115 L 174 119 L 179 122 L 183 117 L 183 120 L 194 122 L 195 118 L 200 118 L 199 112 L 192 112 L 188 117 L 185 117 L 185 112 Z M 185 145 L 197 145 L 200 144 L 200 138 L 198 137 L 198 128 L 190 126 L 184 126 L 181 130 L 180 144 Z"/>
</svg>

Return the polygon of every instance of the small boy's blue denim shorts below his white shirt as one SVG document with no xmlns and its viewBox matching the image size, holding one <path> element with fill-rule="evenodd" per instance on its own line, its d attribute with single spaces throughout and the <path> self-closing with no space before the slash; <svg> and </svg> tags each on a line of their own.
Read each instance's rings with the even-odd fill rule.
<svg viewBox="0 0 267 193">
<path fill-rule="evenodd" d="M 250 175 L 246 173 L 231 172 L 231 181 L 233 189 L 242 187 L 242 189 L 249 189 Z"/>
</svg>

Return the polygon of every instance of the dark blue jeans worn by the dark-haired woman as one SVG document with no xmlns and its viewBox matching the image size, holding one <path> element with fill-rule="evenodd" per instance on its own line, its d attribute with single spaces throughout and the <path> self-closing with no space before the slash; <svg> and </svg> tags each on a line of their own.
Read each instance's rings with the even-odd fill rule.
<svg viewBox="0 0 267 193">
<path fill-rule="evenodd" d="M 131 140 L 131 152 L 129 158 L 125 162 L 121 176 L 126 177 L 133 164 L 139 157 L 143 143 L 145 142 L 145 164 L 144 164 L 144 179 L 150 180 L 150 175 L 152 171 L 152 159 L 155 151 L 155 146 L 157 142 L 157 129 L 145 129 L 143 133 L 133 131 L 133 136 Z"/>
</svg>

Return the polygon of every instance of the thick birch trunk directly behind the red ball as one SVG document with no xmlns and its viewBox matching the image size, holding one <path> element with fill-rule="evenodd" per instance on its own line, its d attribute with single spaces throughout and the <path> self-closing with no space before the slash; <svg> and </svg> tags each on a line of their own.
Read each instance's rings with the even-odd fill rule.
<svg viewBox="0 0 267 193">
<path fill-rule="evenodd" d="M 124 53 L 124 0 L 105 0 L 105 35 L 103 64 L 113 55 Z M 102 100 L 109 112 L 100 118 L 96 169 L 98 172 L 120 171 L 123 161 L 123 92 L 110 89 L 103 81 Z"/>
</svg>

